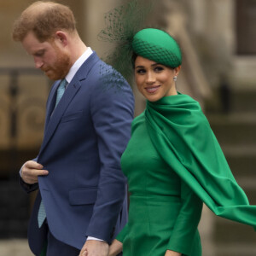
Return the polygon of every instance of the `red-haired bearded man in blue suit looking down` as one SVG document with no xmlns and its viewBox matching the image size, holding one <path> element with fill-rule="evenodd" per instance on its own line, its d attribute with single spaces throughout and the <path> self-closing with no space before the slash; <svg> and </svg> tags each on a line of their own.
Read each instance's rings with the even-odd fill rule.
<svg viewBox="0 0 256 256">
<path fill-rule="evenodd" d="M 26 192 L 39 189 L 28 229 L 32 252 L 108 255 L 127 217 L 119 160 L 130 137 L 131 88 L 82 42 L 67 6 L 32 3 L 13 38 L 55 80 L 38 157 L 20 169 Z"/>
</svg>

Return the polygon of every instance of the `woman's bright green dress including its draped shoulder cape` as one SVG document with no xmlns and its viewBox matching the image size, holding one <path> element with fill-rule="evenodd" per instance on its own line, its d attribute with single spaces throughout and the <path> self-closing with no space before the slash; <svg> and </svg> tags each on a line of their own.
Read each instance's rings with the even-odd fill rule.
<svg viewBox="0 0 256 256">
<path fill-rule="evenodd" d="M 134 119 L 121 165 L 129 220 L 117 239 L 124 256 L 201 255 L 202 201 L 212 212 L 256 226 L 256 207 L 236 183 L 198 102 L 178 94 Z"/>
</svg>

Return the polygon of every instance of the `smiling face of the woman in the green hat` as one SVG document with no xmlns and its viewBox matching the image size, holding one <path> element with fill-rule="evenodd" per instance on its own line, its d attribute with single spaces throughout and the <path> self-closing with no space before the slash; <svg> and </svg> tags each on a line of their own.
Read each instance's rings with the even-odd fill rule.
<svg viewBox="0 0 256 256">
<path fill-rule="evenodd" d="M 156 102 L 164 96 L 177 95 L 173 77 L 179 70 L 180 66 L 172 69 L 137 56 L 135 60 L 137 88 L 149 102 Z"/>
</svg>

